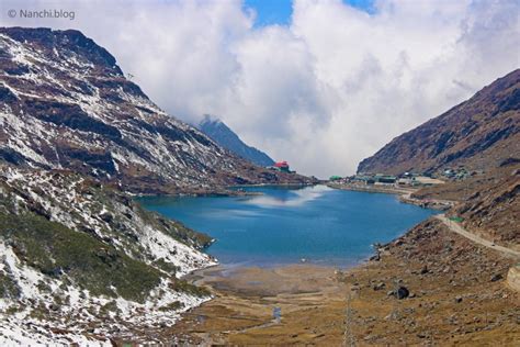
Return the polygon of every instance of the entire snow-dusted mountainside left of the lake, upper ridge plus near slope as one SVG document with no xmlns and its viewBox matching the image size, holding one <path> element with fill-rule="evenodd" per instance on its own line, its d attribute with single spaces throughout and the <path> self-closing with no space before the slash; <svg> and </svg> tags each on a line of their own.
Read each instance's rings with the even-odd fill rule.
<svg viewBox="0 0 520 347">
<path fill-rule="evenodd" d="M 129 193 L 310 182 L 169 116 L 77 31 L 0 29 L 0 125 L 2 346 L 161 343 L 210 299 L 181 277 L 212 239 Z"/>
</svg>

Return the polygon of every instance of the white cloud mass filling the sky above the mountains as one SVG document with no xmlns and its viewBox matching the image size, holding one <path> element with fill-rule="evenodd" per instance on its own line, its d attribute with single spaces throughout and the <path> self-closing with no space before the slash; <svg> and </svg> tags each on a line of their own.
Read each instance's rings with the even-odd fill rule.
<svg viewBox="0 0 520 347">
<path fill-rule="evenodd" d="M 5 16 L 24 7 L 77 14 Z M 297 0 L 290 26 L 253 29 L 239 0 L 2 1 L 2 24 L 82 30 L 172 115 L 216 114 L 276 159 L 328 176 L 520 66 L 516 0 L 375 8 Z"/>
</svg>

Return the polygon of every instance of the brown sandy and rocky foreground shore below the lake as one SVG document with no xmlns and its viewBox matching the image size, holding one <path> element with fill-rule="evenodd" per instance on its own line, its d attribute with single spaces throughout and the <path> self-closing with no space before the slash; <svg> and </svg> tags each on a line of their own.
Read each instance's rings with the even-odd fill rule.
<svg viewBox="0 0 520 347">
<path fill-rule="evenodd" d="M 380 261 L 344 273 L 312 265 L 202 270 L 191 280 L 215 299 L 165 333 L 202 345 L 513 346 L 520 295 L 506 277 L 517 261 L 430 220 L 385 246 Z M 408 298 L 394 296 L 397 287 Z"/>
</svg>

